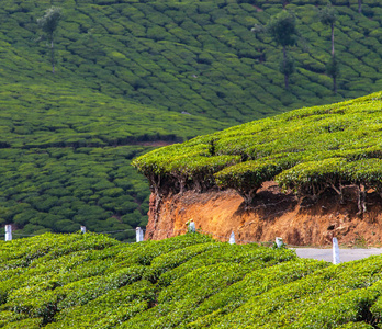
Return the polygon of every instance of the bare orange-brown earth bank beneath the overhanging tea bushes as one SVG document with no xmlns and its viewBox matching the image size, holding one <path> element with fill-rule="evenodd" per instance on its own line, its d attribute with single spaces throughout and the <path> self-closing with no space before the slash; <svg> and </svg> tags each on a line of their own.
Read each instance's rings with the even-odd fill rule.
<svg viewBox="0 0 382 329">
<path fill-rule="evenodd" d="M 168 195 L 151 195 L 146 239 L 164 239 L 187 231 L 193 219 L 196 229 L 226 241 L 232 231 L 238 242 L 274 241 L 276 237 L 291 246 L 325 246 L 337 237 L 341 245 L 380 246 L 382 241 L 382 201 L 369 191 L 368 209 L 358 213 L 357 197 L 351 191 L 341 204 L 335 194 L 318 202 L 299 201 L 284 194 L 273 182 L 267 182 L 257 202 L 244 208 L 243 198 L 233 190 Z"/>
</svg>

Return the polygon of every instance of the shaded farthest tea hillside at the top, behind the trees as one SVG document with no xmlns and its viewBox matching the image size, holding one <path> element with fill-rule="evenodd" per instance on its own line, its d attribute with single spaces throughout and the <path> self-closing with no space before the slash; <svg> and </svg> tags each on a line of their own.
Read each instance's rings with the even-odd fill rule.
<svg viewBox="0 0 382 329">
<path fill-rule="evenodd" d="M 37 43 L 36 19 L 49 1 L 3 1 L 1 64 L 11 81 L 52 80 L 49 49 Z M 255 35 L 281 11 L 280 1 L 55 1 L 65 16 L 57 30 L 57 75 L 119 99 L 243 123 L 304 105 L 341 101 L 382 88 L 381 10 L 377 0 L 334 2 L 338 11 L 338 94 L 325 75 L 329 34 L 316 5 L 289 1 L 306 47 L 292 48 L 297 71 L 291 89 L 279 72 L 280 49 Z M 21 73 L 21 75 L 20 75 Z M 33 82 L 32 82 L 33 83 Z M 11 95 L 10 95 L 11 97 Z"/>
</svg>

